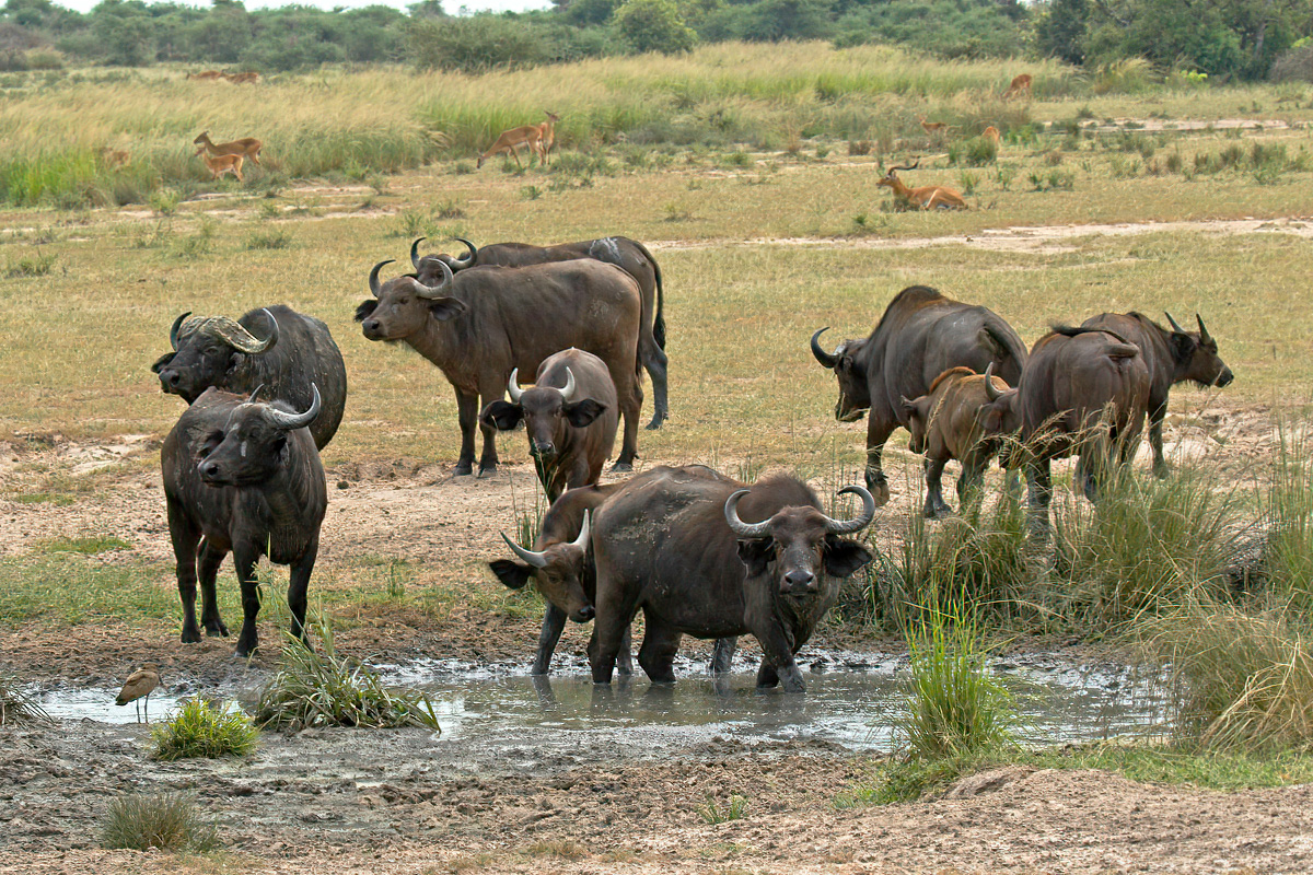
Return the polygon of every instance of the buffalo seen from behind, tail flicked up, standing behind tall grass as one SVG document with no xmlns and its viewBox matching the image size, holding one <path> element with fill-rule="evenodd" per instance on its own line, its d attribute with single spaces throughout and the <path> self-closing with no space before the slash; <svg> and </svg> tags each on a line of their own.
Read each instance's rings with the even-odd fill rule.
<svg viewBox="0 0 1313 875">
<path fill-rule="evenodd" d="M 1125 464 L 1140 439 L 1149 367 L 1138 346 L 1112 332 L 1057 327 L 1031 349 L 1016 388 L 998 392 L 986 384 L 985 391 L 990 396 L 979 413 L 985 429 L 1020 432 L 1031 534 L 1045 537 L 1053 497 L 1050 460 L 1079 455 L 1077 485 L 1096 500 L 1112 454 Z"/>
</svg>

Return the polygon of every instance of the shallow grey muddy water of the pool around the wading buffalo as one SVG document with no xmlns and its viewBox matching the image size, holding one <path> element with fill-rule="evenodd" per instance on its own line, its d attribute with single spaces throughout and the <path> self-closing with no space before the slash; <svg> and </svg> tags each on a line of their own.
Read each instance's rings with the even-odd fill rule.
<svg viewBox="0 0 1313 875">
<path fill-rule="evenodd" d="M 432 695 L 441 733 L 432 754 L 453 765 L 486 758 L 520 767 L 580 760 L 647 760 L 701 743 L 727 740 L 809 741 L 851 750 L 889 750 L 907 694 L 906 659 L 872 659 L 842 652 L 811 653 L 804 662 L 805 695 L 758 693 L 747 660 L 733 674 L 712 678 L 705 664 L 681 661 L 674 686 L 642 676 L 595 686 L 583 664 L 566 660 L 550 677 L 523 668 L 420 661 L 381 666 L 391 682 Z M 999 659 L 993 670 L 1018 697 L 1024 736 L 1041 744 L 1153 732 L 1166 719 L 1161 685 L 1142 672 L 1115 665 L 1074 665 L 1060 657 Z M 246 703 L 257 682 L 232 682 L 211 695 Z M 158 720 L 193 685 L 180 683 L 151 698 Z M 51 716 L 105 723 L 135 720 L 131 704 L 113 704 L 114 691 L 62 689 L 43 694 Z M 444 756 L 445 753 L 445 756 Z"/>
</svg>

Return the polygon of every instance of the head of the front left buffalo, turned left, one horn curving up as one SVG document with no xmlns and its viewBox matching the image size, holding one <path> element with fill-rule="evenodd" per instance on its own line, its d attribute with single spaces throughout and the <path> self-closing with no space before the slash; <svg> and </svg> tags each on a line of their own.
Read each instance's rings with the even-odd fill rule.
<svg viewBox="0 0 1313 875">
<path fill-rule="evenodd" d="M 197 471 L 213 487 L 246 487 L 267 483 L 286 462 L 288 432 L 302 429 L 319 416 L 319 387 L 310 384 L 314 399 L 305 413 L 256 401 L 260 388 L 234 408 L 223 428 L 205 436 Z"/>
</svg>

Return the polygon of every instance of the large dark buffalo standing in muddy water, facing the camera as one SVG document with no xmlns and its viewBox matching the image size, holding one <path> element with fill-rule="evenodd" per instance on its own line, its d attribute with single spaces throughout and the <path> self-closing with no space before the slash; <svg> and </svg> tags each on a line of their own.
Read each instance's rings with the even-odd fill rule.
<svg viewBox="0 0 1313 875">
<path fill-rule="evenodd" d="M 747 488 L 701 467 L 654 468 L 597 508 L 592 529 L 596 619 L 588 643 L 595 683 L 609 683 L 625 630 L 643 611 L 638 662 L 656 683 L 675 680 L 680 638 L 751 632 L 762 644 L 759 687 L 804 690 L 793 655 L 839 596 L 839 579 L 871 561 L 839 535 L 876 513 L 836 521 L 800 480 L 776 475 Z M 755 522 L 743 522 L 742 518 Z"/>
</svg>

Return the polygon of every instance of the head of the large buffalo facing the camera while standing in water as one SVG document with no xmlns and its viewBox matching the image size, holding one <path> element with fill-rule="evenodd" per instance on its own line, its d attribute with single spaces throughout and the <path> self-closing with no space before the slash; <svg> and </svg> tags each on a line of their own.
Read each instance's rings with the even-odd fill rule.
<svg viewBox="0 0 1313 875">
<path fill-rule="evenodd" d="M 748 523 L 738 516 L 738 502 L 748 489 L 726 499 L 725 521 L 738 537 L 748 577 L 768 576 L 780 596 L 806 598 L 821 593 L 822 575 L 848 577 L 871 561 L 865 547 L 839 535 L 865 529 L 876 516 L 876 500 L 857 485 L 844 487 L 839 495 L 846 492 L 861 497 L 861 513 L 852 519 L 831 519 L 810 505 L 794 505 Z"/>
</svg>

